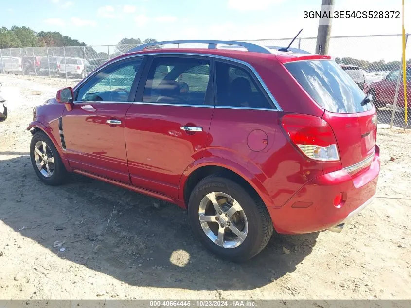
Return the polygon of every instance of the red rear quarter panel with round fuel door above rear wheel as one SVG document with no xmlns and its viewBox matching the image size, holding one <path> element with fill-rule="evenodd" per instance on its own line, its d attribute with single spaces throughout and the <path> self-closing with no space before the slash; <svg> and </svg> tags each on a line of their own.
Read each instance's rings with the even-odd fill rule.
<svg viewBox="0 0 411 308">
<path fill-rule="evenodd" d="M 246 179 L 267 207 L 281 207 L 304 183 L 322 175 L 322 163 L 306 160 L 289 143 L 279 125 L 282 115 L 215 109 L 204 157 L 189 166 L 185 175 L 200 165 L 226 167 Z M 261 131 L 267 137 L 261 137 Z"/>
</svg>

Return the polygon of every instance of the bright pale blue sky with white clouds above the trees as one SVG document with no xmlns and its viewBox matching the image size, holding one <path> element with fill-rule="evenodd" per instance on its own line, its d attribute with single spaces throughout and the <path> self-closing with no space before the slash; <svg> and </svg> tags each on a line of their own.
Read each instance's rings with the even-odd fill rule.
<svg viewBox="0 0 411 308">
<path fill-rule="evenodd" d="M 155 38 L 159 41 L 273 39 L 293 37 L 301 28 L 301 37 L 315 37 L 319 19 L 304 18 L 304 11 L 319 10 L 321 6 L 321 0 L 1 2 L 1 26 L 9 28 L 18 25 L 36 31 L 59 31 L 87 45 L 117 44 L 123 37 Z M 335 0 L 335 10 L 401 11 L 401 0 Z M 405 13 L 405 29 L 411 33 L 411 0 L 405 0 Z M 332 22 L 331 36 L 401 33 L 401 19 L 395 18 L 333 19 Z M 365 44 L 360 47 L 366 48 Z M 393 56 L 395 59 L 398 57 L 401 54 Z"/>
</svg>

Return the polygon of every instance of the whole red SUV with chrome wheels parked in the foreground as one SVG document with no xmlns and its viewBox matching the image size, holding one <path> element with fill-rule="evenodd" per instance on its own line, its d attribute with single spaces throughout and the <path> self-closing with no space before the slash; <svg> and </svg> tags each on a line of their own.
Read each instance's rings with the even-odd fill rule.
<svg viewBox="0 0 411 308">
<path fill-rule="evenodd" d="M 164 48 L 199 42 L 208 48 Z M 376 111 L 329 56 L 152 45 L 36 107 L 27 129 L 41 181 L 74 172 L 176 203 L 209 250 L 235 261 L 273 229 L 340 230 L 370 203 Z"/>
</svg>

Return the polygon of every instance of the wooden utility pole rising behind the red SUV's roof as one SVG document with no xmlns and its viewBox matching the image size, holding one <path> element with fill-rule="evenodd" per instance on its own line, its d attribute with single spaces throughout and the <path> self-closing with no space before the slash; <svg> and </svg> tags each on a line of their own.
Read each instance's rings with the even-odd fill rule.
<svg viewBox="0 0 411 308">
<path fill-rule="evenodd" d="M 326 5 L 326 6 L 325 6 Z M 333 14 L 334 0 L 322 0 L 321 2 L 321 16 Z M 328 54 L 328 44 L 330 42 L 331 34 L 331 20 L 332 18 L 320 18 L 318 24 L 317 44 L 315 47 L 316 54 Z"/>
</svg>

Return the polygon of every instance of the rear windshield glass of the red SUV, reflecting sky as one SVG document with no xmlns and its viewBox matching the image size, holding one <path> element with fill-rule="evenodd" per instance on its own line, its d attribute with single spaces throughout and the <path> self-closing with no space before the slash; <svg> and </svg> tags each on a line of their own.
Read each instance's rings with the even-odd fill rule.
<svg viewBox="0 0 411 308">
<path fill-rule="evenodd" d="M 334 113 L 357 113 L 373 108 L 361 105 L 364 92 L 334 61 L 313 60 L 285 64 L 305 91 L 325 110 Z"/>
</svg>

